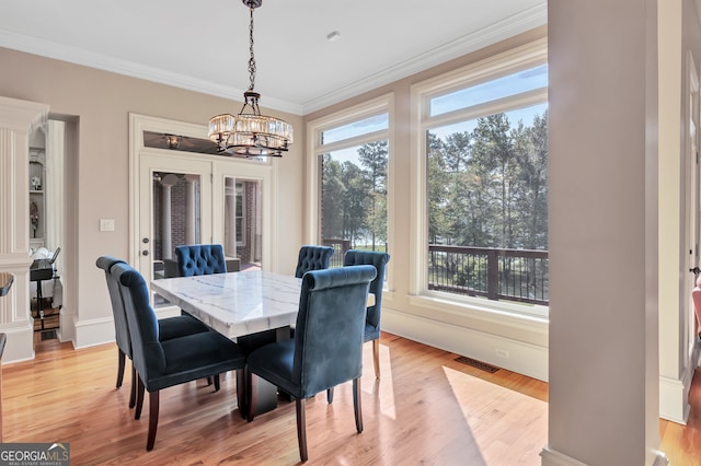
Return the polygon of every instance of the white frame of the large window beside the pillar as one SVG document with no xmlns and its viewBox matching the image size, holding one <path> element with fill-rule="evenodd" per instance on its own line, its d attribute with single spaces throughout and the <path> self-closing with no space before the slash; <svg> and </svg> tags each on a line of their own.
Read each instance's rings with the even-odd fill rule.
<svg viewBox="0 0 701 466">
<path fill-rule="evenodd" d="M 487 301 L 480 298 L 462 296 L 447 292 L 428 290 L 428 215 L 427 209 L 427 167 L 426 167 L 426 133 L 433 128 L 452 125 L 494 113 L 507 112 L 548 102 L 548 88 L 527 91 L 508 97 L 460 108 L 445 114 L 430 116 L 430 100 L 449 94 L 461 89 L 489 82 L 508 74 L 535 68 L 548 62 L 548 44 L 542 38 L 530 44 L 515 47 L 484 60 L 461 67 L 448 73 L 422 81 L 411 86 L 411 180 L 415 189 L 412 190 L 412 209 L 410 213 L 410 264 L 412 270 L 409 291 L 411 302 L 425 310 L 436 308 L 440 303 L 445 310 L 460 313 L 490 312 L 502 316 L 526 316 L 547 318 L 549 306 L 535 305 L 526 307 L 505 301 Z"/>
</svg>

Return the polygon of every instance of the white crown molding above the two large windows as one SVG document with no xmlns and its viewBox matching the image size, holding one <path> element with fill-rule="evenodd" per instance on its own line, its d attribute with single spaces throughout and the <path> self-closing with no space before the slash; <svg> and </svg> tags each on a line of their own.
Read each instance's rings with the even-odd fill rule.
<svg viewBox="0 0 701 466">
<path fill-rule="evenodd" d="M 543 2 L 410 60 L 379 71 L 369 78 L 308 101 L 303 104 L 302 115 L 317 112 L 545 24 L 548 24 L 548 4 Z"/>
</svg>

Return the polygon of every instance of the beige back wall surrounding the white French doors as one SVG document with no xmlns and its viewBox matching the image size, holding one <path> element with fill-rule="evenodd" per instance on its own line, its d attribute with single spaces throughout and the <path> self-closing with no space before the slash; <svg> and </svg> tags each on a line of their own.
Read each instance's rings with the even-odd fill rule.
<svg viewBox="0 0 701 466">
<path fill-rule="evenodd" d="M 212 115 L 235 113 L 241 104 L 4 48 L 0 63 L 0 95 L 47 104 L 53 117 L 78 121 L 77 147 L 67 154 L 68 247 L 61 247 L 61 256 L 67 307 L 73 308 L 65 313 L 76 314 L 76 325 L 108 319 L 104 275 L 95 259 L 129 257 L 129 113 L 206 125 Z M 289 271 L 301 244 L 303 131 L 301 117 L 267 113 L 296 130 L 289 153 L 273 161 L 279 174 L 274 214 L 285 228 L 278 251 L 295 252 L 276 257 L 274 268 Z M 105 218 L 115 220 L 114 232 L 99 231 Z"/>
</svg>

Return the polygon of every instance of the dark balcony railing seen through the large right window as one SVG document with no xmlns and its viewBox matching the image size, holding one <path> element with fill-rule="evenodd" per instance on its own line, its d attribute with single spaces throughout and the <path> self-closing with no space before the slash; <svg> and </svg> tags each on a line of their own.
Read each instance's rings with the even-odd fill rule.
<svg viewBox="0 0 701 466">
<path fill-rule="evenodd" d="M 430 244 L 428 289 L 548 305 L 548 252 Z"/>
</svg>

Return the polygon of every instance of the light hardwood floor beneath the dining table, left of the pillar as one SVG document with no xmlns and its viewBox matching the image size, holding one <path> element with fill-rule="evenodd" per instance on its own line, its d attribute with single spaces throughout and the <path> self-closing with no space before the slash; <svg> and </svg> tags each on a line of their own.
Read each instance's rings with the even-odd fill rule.
<svg viewBox="0 0 701 466">
<path fill-rule="evenodd" d="M 372 347 L 364 348 L 361 434 L 349 383 L 336 388 L 332 405 L 325 394 L 307 403 L 307 464 L 540 465 L 545 383 L 506 370 L 491 374 L 389 334 L 380 349 L 376 381 Z M 41 342 L 33 361 L 5 364 L 4 442 L 68 442 L 74 465 L 300 463 L 295 404 L 280 401 L 248 423 L 232 373 L 218 393 L 204 381 L 163 391 L 156 447 L 147 452 L 148 406 L 135 420 L 129 377 L 115 389 L 116 368 L 114 345 L 73 350 L 57 340 Z"/>
</svg>

